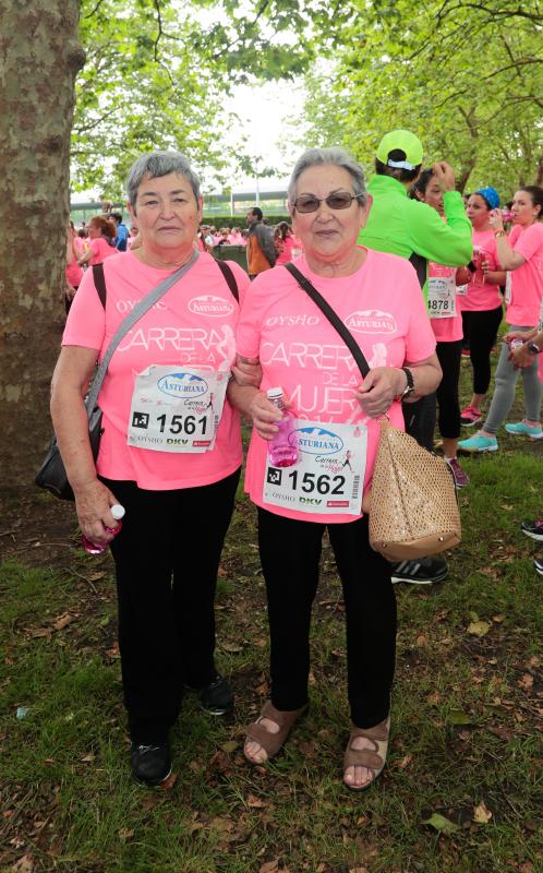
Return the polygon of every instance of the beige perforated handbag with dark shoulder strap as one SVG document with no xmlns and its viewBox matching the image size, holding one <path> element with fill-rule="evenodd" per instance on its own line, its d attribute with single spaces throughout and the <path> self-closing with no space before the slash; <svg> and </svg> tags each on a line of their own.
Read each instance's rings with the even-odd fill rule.
<svg viewBox="0 0 543 873">
<path fill-rule="evenodd" d="M 365 376 L 370 367 L 351 332 L 293 264 L 285 266 L 334 325 Z M 383 418 L 370 500 L 370 546 L 389 561 L 402 561 L 437 554 L 460 539 L 451 470 Z"/>
</svg>

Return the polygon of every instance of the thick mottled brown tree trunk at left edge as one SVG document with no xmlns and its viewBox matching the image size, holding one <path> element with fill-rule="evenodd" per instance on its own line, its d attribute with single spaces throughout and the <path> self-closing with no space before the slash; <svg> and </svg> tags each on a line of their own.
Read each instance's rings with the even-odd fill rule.
<svg viewBox="0 0 543 873">
<path fill-rule="evenodd" d="M 0 0 L 0 463 L 29 480 L 51 435 L 63 323 L 79 0 Z"/>
</svg>

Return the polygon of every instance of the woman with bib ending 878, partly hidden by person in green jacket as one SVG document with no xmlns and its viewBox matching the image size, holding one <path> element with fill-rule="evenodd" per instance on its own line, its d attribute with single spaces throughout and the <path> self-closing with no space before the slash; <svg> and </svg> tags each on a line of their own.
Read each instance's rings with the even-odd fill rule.
<svg viewBox="0 0 543 873">
<path fill-rule="evenodd" d="M 444 218 L 443 191 L 433 169 L 423 170 L 410 193 L 426 203 Z M 438 427 L 443 439 L 443 454 L 449 465 L 457 488 L 469 485 L 469 476 L 457 458 L 460 436 L 460 405 L 458 383 L 462 350 L 462 316 L 457 306 L 457 286 L 469 282 L 467 267 L 443 266 L 429 263 L 427 306 L 430 322 L 437 340 L 436 354 L 443 370 L 437 387 Z"/>
</svg>

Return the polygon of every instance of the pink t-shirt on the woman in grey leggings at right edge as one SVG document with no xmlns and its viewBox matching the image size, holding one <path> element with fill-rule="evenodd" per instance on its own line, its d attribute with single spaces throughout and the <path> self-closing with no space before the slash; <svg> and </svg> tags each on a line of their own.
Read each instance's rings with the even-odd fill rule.
<svg viewBox="0 0 543 873">
<path fill-rule="evenodd" d="M 507 323 L 522 327 L 538 324 L 543 297 L 543 224 L 522 229 L 516 225 L 508 237 L 512 251 L 524 259 L 522 266 L 511 270 L 511 300 L 507 306 Z"/>
</svg>

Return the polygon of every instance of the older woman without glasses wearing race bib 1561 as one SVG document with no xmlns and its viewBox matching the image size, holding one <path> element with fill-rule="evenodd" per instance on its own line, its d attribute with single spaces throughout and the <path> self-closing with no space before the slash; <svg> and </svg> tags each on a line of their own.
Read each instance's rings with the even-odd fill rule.
<svg viewBox="0 0 543 873">
<path fill-rule="evenodd" d="M 142 155 L 128 194 L 141 246 L 104 263 L 105 306 L 96 272 L 85 274 L 55 370 L 51 415 L 80 527 L 97 549 L 111 547 L 132 770 L 154 786 L 170 773 L 168 734 L 183 686 L 215 715 L 233 705 L 215 668 L 214 598 L 242 462 L 227 385 L 249 277 L 198 252 L 203 203 L 184 155 Z M 95 463 L 83 397 L 96 359 L 126 313 L 176 273 L 111 358 Z M 117 503 L 122 529 L 111 513 Z"/>
</svg>

